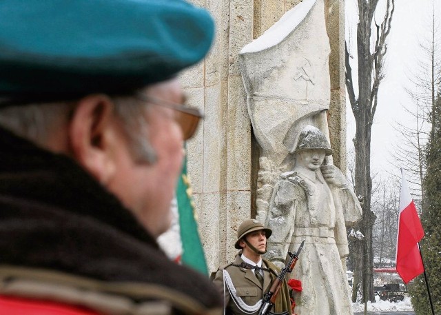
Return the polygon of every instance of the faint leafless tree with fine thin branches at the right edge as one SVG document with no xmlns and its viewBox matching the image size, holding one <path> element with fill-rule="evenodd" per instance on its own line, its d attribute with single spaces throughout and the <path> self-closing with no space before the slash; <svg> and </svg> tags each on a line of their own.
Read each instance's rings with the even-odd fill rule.
<svg viewBox="0 0 441 315">
<path fill-rule="evenodd" d="M 437 83 L 441 79 L 440 32 L 434 1 L 431 16 L 425 21 L 428 21 L 426 22 L 428 23 L 427 32 L 420 37 L 417 68 L 411 70 L 410 85 L 406 88 L 413 106 L 404 108 L 413 117 L 415 125 L 397 123 L 396 130 L 402 135 L 404 145 L 397 147 L 393 154 L 396 161 L 407 171 L 409 187 L 420 211 L 424 211 L 424 186 L 422 185 L 426 174 L 424 150 L 432 127 L 435 95 L 439 90 Z"/>
</svg>

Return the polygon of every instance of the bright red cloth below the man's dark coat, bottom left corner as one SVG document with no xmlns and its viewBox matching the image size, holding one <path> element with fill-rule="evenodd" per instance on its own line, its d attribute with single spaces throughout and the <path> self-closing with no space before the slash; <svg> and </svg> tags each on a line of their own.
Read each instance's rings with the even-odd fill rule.
<svg viewBox="0 0 441 315">
<path fill-rule="evenodd" d="M 83 307 L 0 295 L 0 314 L 8 315 L 100 315 Z M 101 314 L 102 315 L 102 314 Z"/>
</svg>

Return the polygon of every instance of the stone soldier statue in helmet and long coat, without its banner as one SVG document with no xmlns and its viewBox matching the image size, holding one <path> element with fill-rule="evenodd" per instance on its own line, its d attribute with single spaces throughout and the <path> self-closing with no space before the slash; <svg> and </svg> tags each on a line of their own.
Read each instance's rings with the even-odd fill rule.
<svg viewBox="0 0 441 315">
<path fill-rule="evenodd" d="M 350 315 L 341 259 L 349 254 L 346 225 L 353 223 L 346 219 L 361 218 L 360 204 L 340 170 L 323 164 L 332 150 L 318 128 L 307 125 L 293 153 L 296 163 L 280 174 L 269 203 L 265 226 L 273 234 L 267 241 L 267 258 L 283 264 L 288 250 L 294 252 L 305 240 L 292 274 L 303 288 L 294 292 L 296 314 Z"/>
</svg>

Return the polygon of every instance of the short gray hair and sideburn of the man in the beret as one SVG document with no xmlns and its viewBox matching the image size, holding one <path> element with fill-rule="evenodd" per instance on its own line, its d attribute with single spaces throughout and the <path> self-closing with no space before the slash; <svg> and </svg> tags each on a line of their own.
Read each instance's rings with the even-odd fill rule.
<svg viewBox="0 0 441 315">
<path fill-rule="evenodd" d="M 116 96 L 114 114 L 130 145 L 130 153 L 139 163 L 155 163 L 156 152 L 148 138 L 145 105 L 130 96 Z M 33 143 L 45 147 L 51 133 L 70 120 L 75 102 L 32 103 L 0 109 L 0 125 Z"/>
</svg>

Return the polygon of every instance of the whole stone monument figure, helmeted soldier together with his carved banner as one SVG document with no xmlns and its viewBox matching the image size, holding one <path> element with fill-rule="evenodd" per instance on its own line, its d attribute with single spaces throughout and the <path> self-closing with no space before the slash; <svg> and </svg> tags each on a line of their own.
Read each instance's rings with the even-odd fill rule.
<svg viewBox="0 0 441 315">
<path fill-rule="evenodd" d="M 240 52 L 260 145 L 256 219 L 273 230 L 267 258 L 283 264 L 305 239 L 291 274 L 302 281 L 298 315 L 352 314 L 342 258 L 361 207 L 332 161 L 329 52 L 324 0 L 302 1 Z"/>
</svg>

